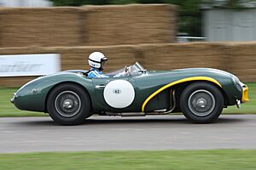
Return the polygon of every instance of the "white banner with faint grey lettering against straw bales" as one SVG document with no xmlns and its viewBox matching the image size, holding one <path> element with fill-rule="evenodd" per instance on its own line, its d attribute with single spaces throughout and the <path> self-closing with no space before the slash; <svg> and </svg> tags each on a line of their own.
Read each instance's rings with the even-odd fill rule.
<svg viewBox="0 0 256 170">
<path fill-rule="evenodd" d="M 0 77 L 49 75 L 61 71 L 60 54 L 0 55 Z"/>
</svg>

